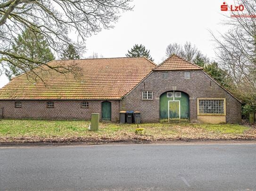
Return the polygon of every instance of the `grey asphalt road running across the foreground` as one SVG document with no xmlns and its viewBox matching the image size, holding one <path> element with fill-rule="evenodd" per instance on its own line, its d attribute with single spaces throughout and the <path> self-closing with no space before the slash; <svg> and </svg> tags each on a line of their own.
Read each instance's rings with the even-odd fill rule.
<svg viewBox="0 0 256 191">
<path fill-rule="evenodd" d="M 256 144 L 0 148 L 0 190 L 256 190 Z"/>
</svg>

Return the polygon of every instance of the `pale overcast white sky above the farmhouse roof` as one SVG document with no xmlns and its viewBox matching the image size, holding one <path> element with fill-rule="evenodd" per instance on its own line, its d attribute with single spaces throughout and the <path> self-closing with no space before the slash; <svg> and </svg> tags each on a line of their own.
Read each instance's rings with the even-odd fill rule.
<svg viewBox="0 0 256 191">
<path fill-rule="evenodd" d="M 214 58 L 215 46 L 208 30 L 227 30 L 221 24 L 225 19 L 220 11 L 222 3 L 223 0 L 134 0 L 134 10 L 123 13 L 115 28 L 87 39 L 83 57 L 93 52 L 105 58 L 124 57 L 134 44 L 143 44 L 158 64 L 165 57 L 167 45 L 190 41 Z M 7 77 L 0 76 L 0 87 L 7 83 Z"/>
</svg>

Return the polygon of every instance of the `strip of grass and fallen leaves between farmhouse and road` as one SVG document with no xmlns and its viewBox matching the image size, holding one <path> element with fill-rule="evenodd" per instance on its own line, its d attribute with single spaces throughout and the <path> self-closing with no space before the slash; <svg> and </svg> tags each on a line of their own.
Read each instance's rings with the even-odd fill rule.
<svg viewBox="0 0 256 191">
<path fill-rule="evenodd" d="M 118 142 L 188 139 L 256 139 L 256 129 L 238 124 L 143 123 L 146 135 L 136 135 L 136 124 L 100 123 L 99 131 L 88 130 L 90 122 L 1 120 L 0 142 Z"/>
</svg>

